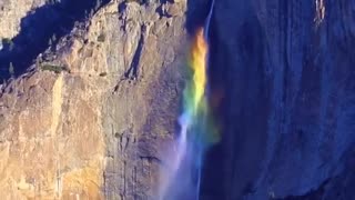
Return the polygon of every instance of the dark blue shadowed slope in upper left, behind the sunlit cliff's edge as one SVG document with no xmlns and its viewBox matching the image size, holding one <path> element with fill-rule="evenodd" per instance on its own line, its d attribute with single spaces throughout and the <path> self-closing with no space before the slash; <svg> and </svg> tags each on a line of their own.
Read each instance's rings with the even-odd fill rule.
<svg viewBox="0 0 355 200">
<path fill-rule="evenodd" d="M 54 47 L 58 40 L 68 34 L 75 22 L 94 13 L 109 0 L 62 0 L 47 3 L 21 19 L 21 30 L 11 40 L 2 41 L 0 50 L 0 79 L 10 78 L 9 66 L 12 63 L 14 76 L 20 76 L 33 60 L 48 47 Z"/>
</svg>

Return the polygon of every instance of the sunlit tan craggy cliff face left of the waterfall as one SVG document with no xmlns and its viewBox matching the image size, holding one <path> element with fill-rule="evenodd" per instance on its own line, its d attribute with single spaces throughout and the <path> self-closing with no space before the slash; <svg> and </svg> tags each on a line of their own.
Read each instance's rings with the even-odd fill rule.
<svg viewBox="0 0 355 200">
<path fill-rule="evenodd" d="M 112 1 L 88 10 L 30 71 L 1 86 L 3 199 L 152 197 L 182 87 L 185 8 Z"/>
</svg>

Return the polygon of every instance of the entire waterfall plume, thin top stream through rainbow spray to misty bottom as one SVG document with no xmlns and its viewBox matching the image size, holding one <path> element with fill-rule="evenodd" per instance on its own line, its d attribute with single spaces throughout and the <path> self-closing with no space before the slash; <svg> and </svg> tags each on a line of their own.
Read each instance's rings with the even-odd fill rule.
<svg viewBox="0 0 355 200">
<path fill-rule="evenodd" d="M 161 173 L 161 200 L 199 199 L 204 152 L 220 140 L 207 102 L 209 29 L 213 7 L 214 0 L 204 28 L 196 30 L 192 42 L 191 77 L 183 92 L 183 112 L 179 118 L 181 130 Z"/>
</svg>

